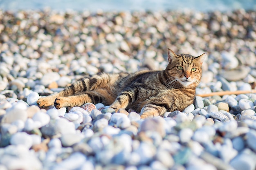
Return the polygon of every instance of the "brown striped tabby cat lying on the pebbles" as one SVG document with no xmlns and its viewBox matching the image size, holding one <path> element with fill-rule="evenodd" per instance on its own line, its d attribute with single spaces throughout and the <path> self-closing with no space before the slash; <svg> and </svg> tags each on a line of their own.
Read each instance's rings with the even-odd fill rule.
<svg viewBox="0 0 256 170">
<path fill-rule="evenodd" d="M 167 111 L 183 111 L 193 103 L 205 55 L 177 55 L 168 49 L 168 65 L 163 71 L 91 75 L 60 93 L 41 97 L 37 104 L 40 108 L 54 104 L 60 109 L 102 103 L 116 111 L 131 108 L 140 113 L 141 119 L 162 116 Z"/>
</svg>

